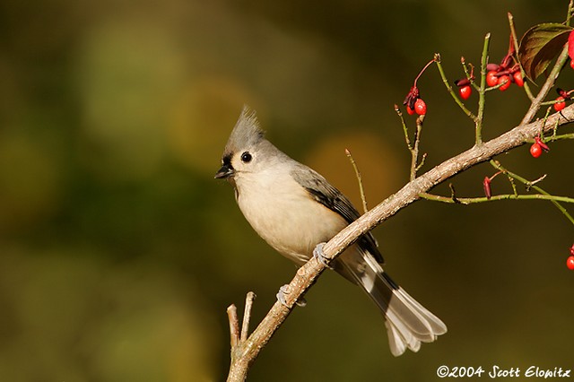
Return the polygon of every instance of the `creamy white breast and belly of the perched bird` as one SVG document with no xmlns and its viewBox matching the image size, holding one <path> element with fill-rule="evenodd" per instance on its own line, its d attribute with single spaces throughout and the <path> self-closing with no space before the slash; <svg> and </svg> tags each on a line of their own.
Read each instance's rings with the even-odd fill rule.
<svg viewBox="0 0 574 382">
<path fill-rule="evenodd" d="M 265 171 L 236 179 L 239 208 L 259 236 L 301 265 L 318 243 L 331 239 L 347 222 L 312 199 L 289 172 Z"/>
</svg>

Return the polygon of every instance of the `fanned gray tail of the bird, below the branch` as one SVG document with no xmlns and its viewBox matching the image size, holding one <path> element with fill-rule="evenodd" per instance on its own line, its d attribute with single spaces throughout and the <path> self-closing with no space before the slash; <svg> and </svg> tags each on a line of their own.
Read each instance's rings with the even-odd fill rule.
<svg viewBox="0 0 574 382">
<path fill-rule="evenodd" d="M 447 333 L 447 326 L 439 317 L 391 280 L 374 257 L 359 251 L 348 252 L 354 252 L 354 256 L 341 256 L 343 261 L 338 265 L 344 266 L 335 266 L 335 269 L 347 278 L 352 276 L 352 281 L 359 284 L 383 312 L 394 356 L 403 354 L 406 349 L 418 352 L 421 343 L 431 343 L 440 334 Z"/>
</svg>

